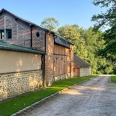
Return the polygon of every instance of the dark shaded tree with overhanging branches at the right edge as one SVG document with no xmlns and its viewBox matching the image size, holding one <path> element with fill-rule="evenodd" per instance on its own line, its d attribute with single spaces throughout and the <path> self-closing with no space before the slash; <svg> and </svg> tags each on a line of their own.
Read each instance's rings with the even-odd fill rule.
<svg viewBox="0 0 116 116">
<path fill-rule="evenodd" d="M 106 47 L 102 50 L 104 56 L 115 55 L 116 57 L 116 0 L 94 0 L 93 4 L 106 7 L 107 11 L 92 17 L 96 21 L 95 28 L 108 27 L 104 33 Z"/>
</svg>

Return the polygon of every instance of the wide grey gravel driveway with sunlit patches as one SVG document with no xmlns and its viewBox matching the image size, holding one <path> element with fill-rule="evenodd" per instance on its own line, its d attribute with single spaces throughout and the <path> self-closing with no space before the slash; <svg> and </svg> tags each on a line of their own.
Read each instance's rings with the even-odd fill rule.
<svg viewBox="0 0 116 116">
<path fill-rule="evenodd" d="M 99 76 L 73 86 L 26 116 L 116 116 L 116 84 Z"/>
</svg>

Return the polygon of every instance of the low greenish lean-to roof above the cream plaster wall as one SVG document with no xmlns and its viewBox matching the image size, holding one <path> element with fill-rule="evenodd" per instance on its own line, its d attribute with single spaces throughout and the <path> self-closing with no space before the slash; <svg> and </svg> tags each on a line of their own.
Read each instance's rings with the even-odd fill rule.
<svg viewBox="0 0 116 116">
<path fill-rule="evenodd" d="M 19 52 L 28 52 L 28 53 L 39 53 L 39 54 L 44 54 L 43 51 L 32 49 L 32 48 L 27 48 L 27 47 L 22 47 L 14 44 L 8 44 L 6 42 L 0 41 L 0 49 L 2 50 L 11 50 L 11 51 L 19 51 Z"/>
</svg>

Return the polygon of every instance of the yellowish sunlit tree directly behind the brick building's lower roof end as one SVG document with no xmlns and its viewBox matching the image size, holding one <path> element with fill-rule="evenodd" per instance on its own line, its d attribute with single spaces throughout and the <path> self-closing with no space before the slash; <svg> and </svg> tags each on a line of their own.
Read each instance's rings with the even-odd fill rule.
<svg viewBox="0 0 116 116">
<path fill-rule="evenodd" d="M 74 43 L 74 52 L 80 57 L 87 56 L 85 41 L 81 37 L 78 25 L 64 25 L 58 29 L 60 36 Z"/>
</svg>

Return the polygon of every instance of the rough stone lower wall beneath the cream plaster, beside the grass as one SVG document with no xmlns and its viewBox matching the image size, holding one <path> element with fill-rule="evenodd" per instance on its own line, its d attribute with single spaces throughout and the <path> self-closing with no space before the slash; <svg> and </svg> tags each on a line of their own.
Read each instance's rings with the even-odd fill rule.
<svg viewBox="0 0 116 116">
<path fill-rule="evenodd" d="M 42 70 L 0 74 L 0 101 L 37 90 L 42 85 Z"/>
</svg>

